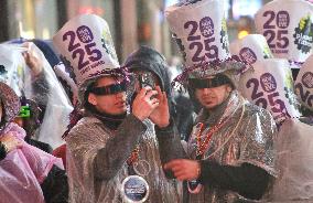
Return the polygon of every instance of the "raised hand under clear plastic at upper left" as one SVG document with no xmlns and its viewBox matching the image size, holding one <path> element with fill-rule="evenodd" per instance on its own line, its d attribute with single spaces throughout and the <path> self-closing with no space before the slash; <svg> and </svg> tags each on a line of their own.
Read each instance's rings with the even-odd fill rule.
<svg viewBox="0 0 313 203">
<path fill-rule="evenodd" d="M 25 60 L 26 65 L 30 67 L 33 76 L 39 76 L 42 72 L 43 64 L 42 61 L 34 54 L 30 49 L 30 44 L 25 43 L 23 46 L 28 47 L 28 51 L 23 52 L 22 55 Z"/>
</svg>

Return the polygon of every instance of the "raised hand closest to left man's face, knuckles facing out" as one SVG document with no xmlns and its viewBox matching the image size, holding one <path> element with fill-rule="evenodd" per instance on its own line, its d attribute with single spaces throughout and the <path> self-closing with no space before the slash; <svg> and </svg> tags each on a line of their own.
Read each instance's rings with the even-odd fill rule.
<svg viewBox="0 0 313 203">
<path fill-rule="evenodd" d="M 159 99 L 152 98 L 158 92 L 152 90 L 151 87 L 144 87 L 136 96 L 132 103 L 132 114 L 141 121 L 159 106 Z"/>
</svg>

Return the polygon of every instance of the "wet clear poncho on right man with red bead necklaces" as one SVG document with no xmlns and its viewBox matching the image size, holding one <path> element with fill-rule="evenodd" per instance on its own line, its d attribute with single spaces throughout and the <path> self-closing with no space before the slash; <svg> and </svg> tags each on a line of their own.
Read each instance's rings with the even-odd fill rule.
<svg viewBox="0 0 313 203">
<path fill-rule="evenodd" d="M 277 175 L 274 169 L 273 139 L 277 135 L 276 124 L 271 115 L 245 100 L 237 90 L 233 90 L 228 100 L 224 101 L 211 115 L 202 110 L 197 118 L 204 124 L 201 140 L 204 140 L 208 126 L 213 127 L 220 120 L 224 125 L 213 133 L 203 160 L 214 160 L 222 165 L 240 165 L 250 163 Z M 196 137 L 198 130 L 194 128 L 187 143 L 187 154 L 195 159 Z M 233 191 L 225 191 L 211 186 L 203 186 L 201 193 L 190 194 L 188 202 L 236 202 L 248 201 Z"/>
</svg>

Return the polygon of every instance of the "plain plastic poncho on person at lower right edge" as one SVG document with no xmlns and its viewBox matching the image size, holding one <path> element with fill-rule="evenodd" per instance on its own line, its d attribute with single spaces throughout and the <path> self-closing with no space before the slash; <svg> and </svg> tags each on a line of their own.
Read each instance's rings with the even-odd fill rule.
<svg viewBox="0 0 313 203">
<path fill-rule="evenodd" d="M 273 201 L 313 202 L 313 126 L 299 119 L 285 120 L 276 149 L 279 177 L 273 185 Z"/>
</svg>

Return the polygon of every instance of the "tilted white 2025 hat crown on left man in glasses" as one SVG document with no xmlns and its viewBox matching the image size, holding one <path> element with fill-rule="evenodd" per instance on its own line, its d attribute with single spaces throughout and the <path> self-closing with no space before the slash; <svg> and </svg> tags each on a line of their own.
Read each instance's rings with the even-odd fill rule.
<svg viewBox="0 0 313 203">
<path fill-rule="evenodd" d="M 73 67 L 78 86 L 87 78 L 119 67 L 107 22 L 95 14 L 78 15 L 53 38 L 67 67 Z"/>
</svg>

